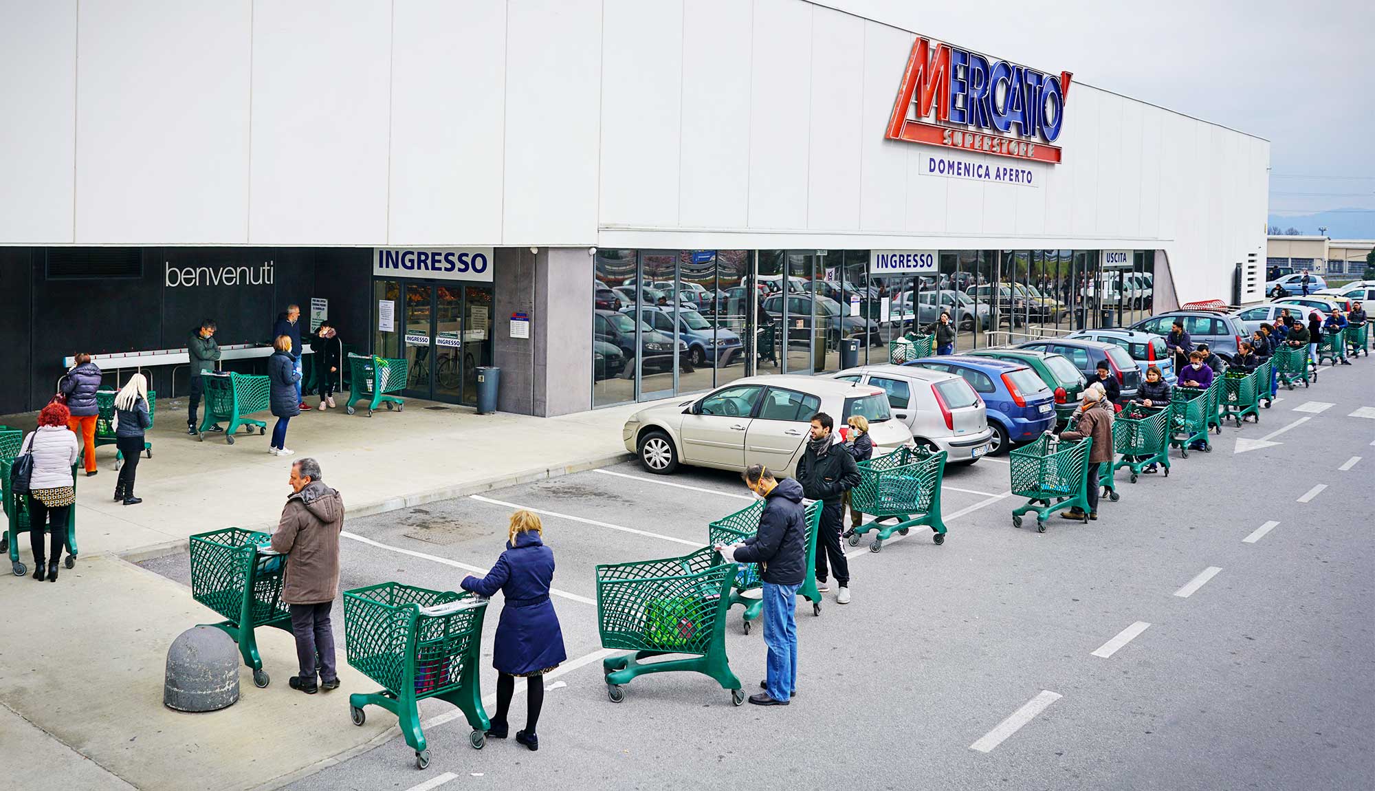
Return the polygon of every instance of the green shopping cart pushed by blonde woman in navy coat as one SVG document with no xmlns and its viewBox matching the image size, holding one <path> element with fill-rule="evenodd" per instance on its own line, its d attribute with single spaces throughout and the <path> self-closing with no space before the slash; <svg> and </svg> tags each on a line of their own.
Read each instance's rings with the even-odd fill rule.
<svg viewBox="0 0 1375 791">
<path fill-rule="evenodd" d="M 351 667 L 382 685 L 381 692 L 348 696 L 353 725 L 363 725 L 364 706 L 396 715 L 402 736 L 415 751 L 415 766 L 429 766 L 418 702 L 426 697 L 456 706 L 473 732 L 468 743 L 481 750 L 491 722 L 483 708 L 477 663 L 487 600 L 472 593 L 428 590 L 397 582 L 344 592 L 344 642 Z"/>
</svg>

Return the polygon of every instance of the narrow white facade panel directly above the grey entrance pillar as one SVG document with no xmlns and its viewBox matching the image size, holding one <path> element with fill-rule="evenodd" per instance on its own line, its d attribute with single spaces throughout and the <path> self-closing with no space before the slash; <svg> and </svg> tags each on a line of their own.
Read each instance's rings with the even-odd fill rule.
<svg viewBox="0 0 1375 791">
<path fill-rule="evenodd" d="M 597 242 L 601 55 L 598 0 L 509 0 L 503 243 Z"/>
</svg>

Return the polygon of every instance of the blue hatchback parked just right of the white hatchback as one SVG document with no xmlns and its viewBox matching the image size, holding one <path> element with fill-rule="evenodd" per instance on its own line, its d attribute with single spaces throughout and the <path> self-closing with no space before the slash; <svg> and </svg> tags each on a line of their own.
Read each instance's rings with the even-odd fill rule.
<svg viewBox="0 0 1375 791">
<path fill-rule="evenodd" d="M 990 454 L 1005 454 L 1015 443 L 1031 442 L 1055 428 L 1055 393 L 1024 365 L 965 355 L 921 358 L 908 365 L 958 374 L 969 382 L 989 411 L 994 435 Z"/>
</svg>

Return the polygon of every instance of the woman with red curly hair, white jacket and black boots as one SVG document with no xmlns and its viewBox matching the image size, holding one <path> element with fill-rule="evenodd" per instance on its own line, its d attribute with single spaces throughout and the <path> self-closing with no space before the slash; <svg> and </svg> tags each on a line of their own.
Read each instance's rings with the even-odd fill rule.
<svg viewBox="0 0 1375 791">
<path fill-rule="evenodd" d="M 58 561 L 67 543 L 67 517 L 76 502 L 72 465 L 80 448 L 77 435 L 67 429 L 72 413 L 52 402 L 38 413 L 38 429 L 25 437 L 19 453 L 33 454 L 33 473 L 29 477 L 29 545 L 33 548 L 33 578 L 58 581 Z M 43 531 L 51 535 L 48 565 L 43 565 Z"/>
</svg>

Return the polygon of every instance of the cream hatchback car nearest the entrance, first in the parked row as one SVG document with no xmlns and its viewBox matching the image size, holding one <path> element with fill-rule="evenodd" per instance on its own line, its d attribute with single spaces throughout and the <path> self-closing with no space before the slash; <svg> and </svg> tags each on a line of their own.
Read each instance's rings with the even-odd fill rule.
<svg viewBox="0 0 1375 791">
<path fill-rule="evenodd" d="M 850 415 L 864 415 L 874 455 L 912 442 L 883 389 L 806 376 L 745 377 L 704 396 L 642 409 L 626 421 L 622 439 L 656 475 L 668 475 L 679 464 L 733 470 L 762 464 L 788 476 L 818 411 L 829 414 L 836 429 Z"/>
</svg>

